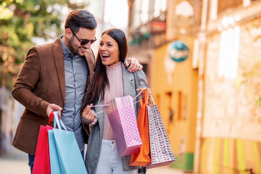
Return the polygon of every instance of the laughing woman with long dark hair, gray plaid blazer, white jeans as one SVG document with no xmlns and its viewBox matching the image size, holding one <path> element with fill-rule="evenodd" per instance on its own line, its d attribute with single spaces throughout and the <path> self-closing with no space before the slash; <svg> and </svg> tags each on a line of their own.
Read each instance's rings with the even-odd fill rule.
<svg viewBox="0 0 261 174">
<path fill-rule="evenodd" d="M 127 41 L 122 30 L 112 28 L 102 33 L 92 89 L 87 103 L 104 105 L 115 97 L 126 95 L 134 98 L 138 86 L 148 87 L 143 71 L 137 71 L 133 76 L 123 65 L 127 50 Z M 138 100 L 137 97 L 136 101 Z M 137 115 L 136 107 L 139 107 L 138 103 L 137 106 L 134 104 Z M 91 110 L 90 107 L 86 107 L 82 113 L 84 122 L 91 125 L 85 156 L 88 174 L 137 173 L 141 167 L 129 166 L 130 155 L 119 157 L 114 134 L 106 112 L 101 112 L 103 110 L 103 107 L 93 107 Z M 95 118 L 94 113 L 98 113 Z"/>
</svg>

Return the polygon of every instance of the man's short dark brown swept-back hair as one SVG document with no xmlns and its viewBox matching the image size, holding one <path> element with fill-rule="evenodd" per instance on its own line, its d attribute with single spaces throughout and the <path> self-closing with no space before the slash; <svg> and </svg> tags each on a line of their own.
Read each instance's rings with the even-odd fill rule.
<svg viewBox="0 0 261 174">
<path fill-rule="evenodd" d="M 64 28 L 70 28 L 75 34 L 78 33 L 79 28 L 94 29 L 97 27 L 97 22 L 88 10 L 73 10 L 71 11 L 65 21 Z"/>
</svg>

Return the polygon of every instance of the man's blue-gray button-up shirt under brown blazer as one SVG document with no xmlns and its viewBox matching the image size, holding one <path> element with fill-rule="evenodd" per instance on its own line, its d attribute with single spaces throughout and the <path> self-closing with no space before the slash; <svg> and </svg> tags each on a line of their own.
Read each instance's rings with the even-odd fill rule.
<svg viewBox="0 0 261 174">
<path fill-rule="evenodd" d="M 84 96 L 88 67 L 85 57 L 74 55 L 68 48 L 62 44 L 64 58 L 64 73 L 65 73 L 65 104 L 61 116 L 65 127 L 68 131 L 73 131 L 80 151 L 84 150 L 84 138 L 82 134 L 82 124 L 80 110 L 82 98 Z"/>
</svg>

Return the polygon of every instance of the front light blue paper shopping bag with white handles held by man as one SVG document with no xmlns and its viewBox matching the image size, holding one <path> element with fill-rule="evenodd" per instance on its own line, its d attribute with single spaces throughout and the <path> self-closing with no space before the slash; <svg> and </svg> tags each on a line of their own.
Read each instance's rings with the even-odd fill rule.
<svg viewBox="0 0 261 174">
<path fill-rule="evenodd" d="M 62 120 L 58 120 L 58 116 L 56 112 L 54 112 L 54 116 L 55 116 L 54 127 L 56 125 L 56 122 L 60 123 L 57 124 L 59 129 L 52 129 L 52 131 L 48 131 L 48 134 L 49 132 L 50 134 L 53 134 L 61 173 L 66 173 L 66 174 L 86 173 L 87 174 L 84 161 L 82 160 L 82 155 L 79 146 L 74 136 L 74 132 L 67 131 Z M 61 130 L 60 125 L 65 130 Z M 52 138 L 52 136 L 50 136 L 50 138 Z M 54 150 L 53 146 L 50 148 Z M 57 158 L 55 159 L 55 161 L 57 164 Z M 59 168 L 57 167 L 56 170 L 58 171 Z"/>
</svg>

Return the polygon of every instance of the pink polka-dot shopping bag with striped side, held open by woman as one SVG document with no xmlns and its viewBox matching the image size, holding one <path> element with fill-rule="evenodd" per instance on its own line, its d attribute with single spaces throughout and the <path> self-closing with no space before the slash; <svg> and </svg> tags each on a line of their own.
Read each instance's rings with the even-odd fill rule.
<svg viewBox="0 0 261 174">
<path fill-rule="evenodd" d="M 117 97 L 106 103 L 104 109 L 115 136 L 119 156 L 135 153 L 142 142 L 140 139 L 133 98 Z"/>
</svg>

